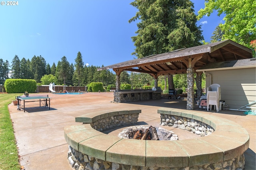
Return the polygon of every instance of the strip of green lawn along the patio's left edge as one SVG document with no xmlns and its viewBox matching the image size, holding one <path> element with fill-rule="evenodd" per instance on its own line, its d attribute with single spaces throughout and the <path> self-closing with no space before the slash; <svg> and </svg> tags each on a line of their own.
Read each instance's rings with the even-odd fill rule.
<svg viewBox="0 0 256 170">
<path fill-rule="evenodd" d="M 0 170 L 20 170 L 8 104 L 21 94 L 0 94 Z"/>
</svg>

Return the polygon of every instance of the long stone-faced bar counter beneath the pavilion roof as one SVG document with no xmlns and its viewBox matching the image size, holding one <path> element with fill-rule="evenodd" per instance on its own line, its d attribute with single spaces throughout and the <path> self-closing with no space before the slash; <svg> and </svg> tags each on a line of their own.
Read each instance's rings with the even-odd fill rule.
<svg viewBox="0 0 256 170">
<path fill-rule="evenodd" d="M 114 102 L 135 102 L 161 99 L 161 90 L 120 90 L 114 92 Z"/>
</svg>

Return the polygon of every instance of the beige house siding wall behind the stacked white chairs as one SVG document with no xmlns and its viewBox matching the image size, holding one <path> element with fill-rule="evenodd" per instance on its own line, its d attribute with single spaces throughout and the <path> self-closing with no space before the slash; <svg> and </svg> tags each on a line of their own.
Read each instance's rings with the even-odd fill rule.
<svg viewBox="0 0 256 170">
<path fill-rule="evenodd" d="M 206 71 L 206 73 L 212 75 L 212 84 L 220 84 L 221 100 L 225 100 L 230 109 L 239 109 L 256 101 L 255 67 Z M 209 86 L 210 76 L 206 76 L 206 90 Z M 241 109 L 247 110 L 248 108 Z"/>
</svg>

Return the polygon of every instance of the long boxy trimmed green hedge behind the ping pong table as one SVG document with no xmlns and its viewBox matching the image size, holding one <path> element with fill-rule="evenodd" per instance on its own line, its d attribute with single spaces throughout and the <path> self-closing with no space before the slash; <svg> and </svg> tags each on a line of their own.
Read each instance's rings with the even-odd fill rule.
<svg viewBox="0 0 256 170">
<path fill-rule="evenodd" d="M 36 80 L 31 79 L 6 79 L 4 88 L 7 93 L 36 92 Z"/>
</svg>

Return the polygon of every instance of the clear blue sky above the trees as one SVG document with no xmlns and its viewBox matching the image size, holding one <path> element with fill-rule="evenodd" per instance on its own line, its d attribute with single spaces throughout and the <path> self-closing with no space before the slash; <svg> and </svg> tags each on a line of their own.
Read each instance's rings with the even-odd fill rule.
<svg viewBox="0 0 256 170">
<path fill-rule="evenodd" d="M 128 23 L 137 9 L 133 0 L 21 0 L 0 5 L 0 59 L 21 60 L 41 55 L 52 66 L 63 56 L 74 64 L 78 51 L 84 63 L 108 66 L 135 58 L 131 37 L 136 22 Z M 7 1 L 4 1 L 7 2 Z M 204 0 L 192 0 L 197 14 Z M 222 21 L 217 12 L 197 22 L 206 42 Z"/>
</svg>

